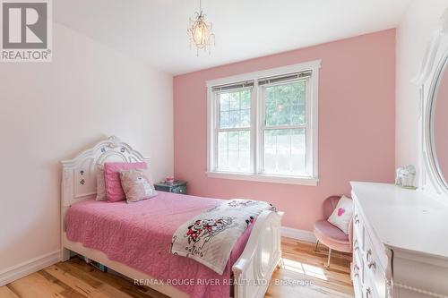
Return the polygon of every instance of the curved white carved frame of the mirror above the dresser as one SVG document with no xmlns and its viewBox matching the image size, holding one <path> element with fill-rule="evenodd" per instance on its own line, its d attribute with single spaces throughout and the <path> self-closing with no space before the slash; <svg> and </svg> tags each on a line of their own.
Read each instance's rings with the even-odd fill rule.
<svg viewBox="0 0 448 298">
<path fill-rule="evenodd" d="M 444 70 L 448 68 L 447 64 L 448 9 L 445 10 L 426 47 L 420 74 L 413 81 L 418 85 L 420 99 L 418 105 L 418 167 L 420 172 L 418 189 L 436 195 L 438 199 L 444 199 L 444 201 L 448 201 L 448 183 L 436 159 L 433 115 L 435 113 L 435 100 L 438 94 L 440 78 L 444 75 Z"/>
</svg>

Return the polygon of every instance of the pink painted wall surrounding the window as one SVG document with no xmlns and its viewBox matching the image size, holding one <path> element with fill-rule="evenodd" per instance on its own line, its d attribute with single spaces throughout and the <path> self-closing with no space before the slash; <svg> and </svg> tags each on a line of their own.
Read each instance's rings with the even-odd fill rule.
<svg viewBox="0 0 448 298">
<path fill-rule="evenodd" d="M 315 186 L 208 178 L 205 81 L 322 59 L 319 178 Z M 268 200 L 283 225 L 312 230 L 324 198 L 349 194 L 350 180 L 387 182 L 394 174 L 395 30 L 223 65 L 174 78 L 175 175 L 189 192 Z"/>
</svg>

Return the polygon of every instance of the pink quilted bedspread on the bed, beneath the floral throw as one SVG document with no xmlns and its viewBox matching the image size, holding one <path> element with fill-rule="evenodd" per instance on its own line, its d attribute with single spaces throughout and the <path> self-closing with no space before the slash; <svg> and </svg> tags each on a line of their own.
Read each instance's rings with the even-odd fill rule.
<svg viewBox="0 0 448 298">
<path fill-rule="evenodd" d="M 195 260 L 169 253 L 177 227 L 221 201 L 169 192 L 132 204 L 84 200 L 65 216 L 67 238 L 103 251 L 110 260 L 171 282 L 192 298 L 227 298 L 231 267 L 244 251 L 252 226 L 238 239 L 222 276 Z M 192 278 L 196 282 L 188 285 Z"/>
</svg>

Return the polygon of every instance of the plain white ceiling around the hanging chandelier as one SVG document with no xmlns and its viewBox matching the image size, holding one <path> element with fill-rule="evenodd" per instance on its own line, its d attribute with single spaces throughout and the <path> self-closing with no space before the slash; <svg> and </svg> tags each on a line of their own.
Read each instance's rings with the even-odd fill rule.
<svg viewBox="0 0 448 298">
<path fill-rule="evenodd" d="M 211 55 L 188 46 L 199 0 L 57 0 L 55 21 L 172 74 L 394 28 L 411 0 L 202 0 Z"/>
</svg>

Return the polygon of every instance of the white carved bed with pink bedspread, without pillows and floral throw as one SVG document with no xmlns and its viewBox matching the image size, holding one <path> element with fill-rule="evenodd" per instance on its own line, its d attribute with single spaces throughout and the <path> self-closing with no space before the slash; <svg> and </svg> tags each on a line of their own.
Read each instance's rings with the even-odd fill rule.
<svg viewBox="0 0 448 298">
<path fill-rule="evenodd" d="M 280 263 L 282 212 L 263 211 L 238 239 L 228 266 L 220 276 L 195 260 L 169 254 L 170 238 L 177 226 L 219 200 L 161 192 L 156 198 L 134 206 L 126 206 L 125 202 L 96 201 L 96 165 L 106 161 L 147 162 L 148 158 L 111 137 L 76 158 L 62 162 L 63 261 L 69 260 L 70 251 L 82 254 L 125 277 L 142 280 L 170 297 L 225 297 L 229 294 L 237 298 L 263 297 L 271 274 Z M 111 233 L 115 236 L 110 237 Z M 126 241 L 129 239 L 134 241 Z M 143 246 L 148 247 L 144 253 L 139 249 Z M 124 250 L 128 251 L 127 255 L 121 253 Z M 220 286 L 204 282 L 189 285 L 185 277 L 218 280 Z M 230 277 L 231 285 L 228 284 Z"/>
</svg>

